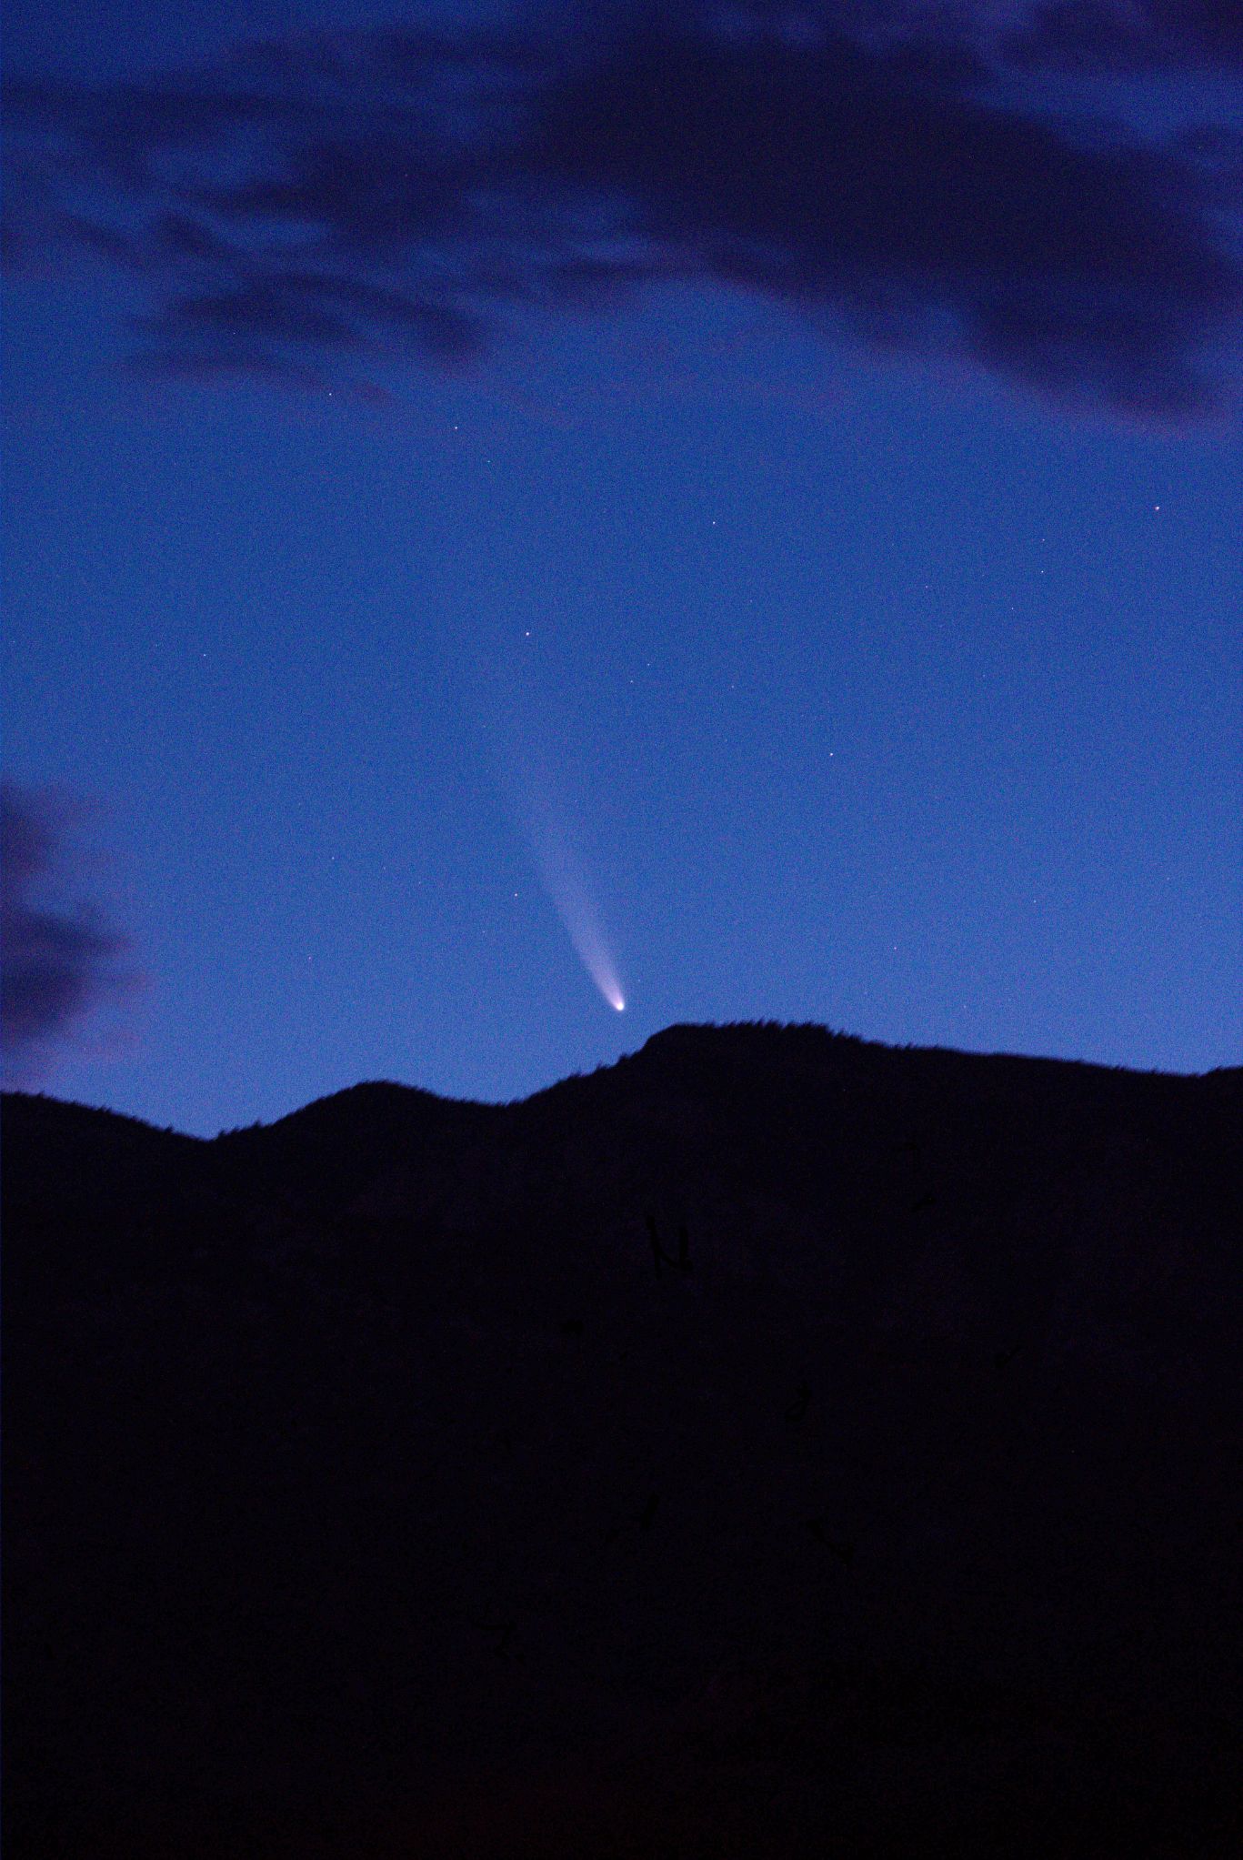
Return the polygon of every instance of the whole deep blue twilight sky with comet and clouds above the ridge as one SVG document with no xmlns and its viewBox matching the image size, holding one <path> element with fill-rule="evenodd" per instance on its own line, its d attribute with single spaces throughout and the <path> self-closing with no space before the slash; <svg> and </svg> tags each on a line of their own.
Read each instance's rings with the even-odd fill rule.
<svg viewBox="0 0 1243 1860">
<path fill-rule="evenodd" d="M 7 1083 L 1237 1064 L 1237 0 L 9 0 L 6 80 Z"/>
</svg>

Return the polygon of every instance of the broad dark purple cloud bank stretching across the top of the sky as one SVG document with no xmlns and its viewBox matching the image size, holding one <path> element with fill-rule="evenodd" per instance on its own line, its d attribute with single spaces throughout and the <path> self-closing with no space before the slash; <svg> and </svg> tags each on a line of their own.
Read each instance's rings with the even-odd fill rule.
<svg viewBox="0 0 1243 1860">
<path fill-rule="evenodd" d="M 1234 9 L 1208 0 L 1049 4 L 1003 35 L 1001 73 L 979 7 L 757 0 L 303 37 L 143 86 L 13 84 L 39 180 L 19 212 L 28 240 L 35 223 L 151 275 L 143 366 L 166 376 L 344 387 L 406 350 L 467 365 L 506 307 L 681 279 L 1187 417 L 1226 392 L 1243 312 L 1213 162 L 1185 138 L 1072 126 L 1014 82 L 1064 58 L 1076 20 L 1105 63 L 1124 15 L 1187 58 L 1237 46 Z"/>
</svg>

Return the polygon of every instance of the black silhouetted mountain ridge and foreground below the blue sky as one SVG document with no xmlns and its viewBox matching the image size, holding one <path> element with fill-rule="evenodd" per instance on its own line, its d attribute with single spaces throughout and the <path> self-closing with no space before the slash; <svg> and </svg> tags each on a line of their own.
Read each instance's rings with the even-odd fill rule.
<svg viewBox="0 0 1243 1860">
<path fill-rule="evenodd" d="M 1228 1854 L 1243 1073 L 4 1101 L 11 1860 Z"/>
</svg>

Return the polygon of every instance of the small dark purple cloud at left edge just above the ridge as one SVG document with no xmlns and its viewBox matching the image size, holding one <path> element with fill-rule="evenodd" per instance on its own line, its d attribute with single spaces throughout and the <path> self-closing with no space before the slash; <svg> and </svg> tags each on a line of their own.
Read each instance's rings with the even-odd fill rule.
<svg viewBox="0 0 1243 1860">
<path fill-rule="evenodd" d="M 39 897 L 65 865 L 73 818 L 48 790 L 0 781 L 0 1056 L 13 1083 L 37 1079 L 91 1008 L 130 986 L 125 937 Z"/>
</svg>

